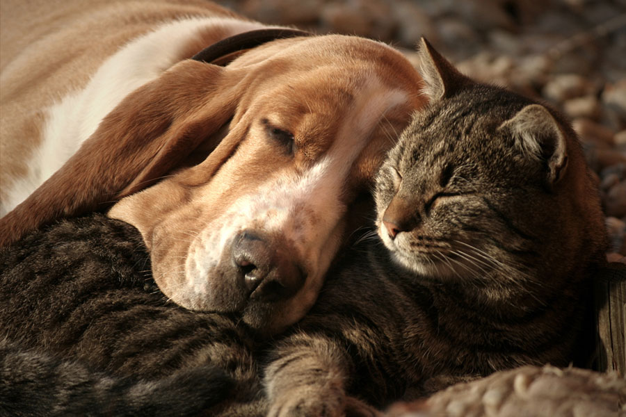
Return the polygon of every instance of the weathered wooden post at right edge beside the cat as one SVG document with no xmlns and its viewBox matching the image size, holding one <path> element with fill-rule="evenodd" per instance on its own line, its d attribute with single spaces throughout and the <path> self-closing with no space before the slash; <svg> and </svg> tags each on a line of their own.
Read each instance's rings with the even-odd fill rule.
<svg viewBox="0 0 626 417">
<path fill-rule="evenodd" d="M 626 264 L 610 263 L 595 282 L 596 353 L 594 368 L 626 377 Z"/>
</svg>

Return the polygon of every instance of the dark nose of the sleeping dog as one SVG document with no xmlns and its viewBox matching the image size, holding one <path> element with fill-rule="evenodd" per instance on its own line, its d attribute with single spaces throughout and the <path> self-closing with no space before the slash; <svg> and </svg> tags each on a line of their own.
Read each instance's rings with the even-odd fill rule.
<svg viewBox="0 0 626 417">
<path fill-rule="evenodd" d="M 290 252 L 255 231 L 244 230 L 234 238 L 232 259 L 250 299 L 284 300 L 303 286 L 305 277 Z"/>
</svg>

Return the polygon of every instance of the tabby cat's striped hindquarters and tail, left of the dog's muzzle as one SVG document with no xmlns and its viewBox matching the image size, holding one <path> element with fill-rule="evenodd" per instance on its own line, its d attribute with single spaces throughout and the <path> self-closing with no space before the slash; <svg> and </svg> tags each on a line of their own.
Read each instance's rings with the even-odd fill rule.
<svg viewBox="0 0 626 417">
<path fill-rule="evenodd" d="M 0 416 L 198 416 L 260 392 L 252 331 L 168 302 L 130 224 L 35 231 L 0 250 L 0 284 Z"/>
</svg>

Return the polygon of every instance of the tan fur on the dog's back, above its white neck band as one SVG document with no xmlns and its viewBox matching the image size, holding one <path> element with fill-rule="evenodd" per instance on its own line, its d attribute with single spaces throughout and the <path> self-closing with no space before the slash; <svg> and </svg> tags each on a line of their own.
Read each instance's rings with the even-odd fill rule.
<svg viewBox="0 0 626 417">
<path fill-rule="evenodd" d="M 129 39 L 186 15 L 234 13 L 207 1 L 2 0 L 0 199 L 26 173 L 24 158 L 40 144 L 45 107 L 82 88 Z M 206 44 L 189 45 L 190 56 L 220 38 L 220 31 L 207 33 Z"/>
</svg>

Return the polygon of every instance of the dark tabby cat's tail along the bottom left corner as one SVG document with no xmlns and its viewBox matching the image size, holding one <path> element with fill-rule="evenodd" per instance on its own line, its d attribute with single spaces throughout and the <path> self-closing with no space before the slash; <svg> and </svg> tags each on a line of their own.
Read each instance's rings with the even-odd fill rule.
<svg viewBox="0 0 626 417">
<path fill-rule="evenodd" d="M 0 358 L 1 416 L 197 416 L 233 385 L 210 366 L 154 381 L 112 377 L 8 341 Z"/>
</svg>

